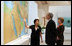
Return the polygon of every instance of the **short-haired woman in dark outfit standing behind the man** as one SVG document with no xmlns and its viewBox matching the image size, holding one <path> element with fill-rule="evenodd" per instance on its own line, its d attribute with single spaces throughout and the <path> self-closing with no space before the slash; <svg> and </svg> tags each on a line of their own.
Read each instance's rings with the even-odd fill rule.
<svg viewBox="0 0 72 46">
<path fill-rule="evenodd" d="M 63 45 L 64 42 L 64 19 L 62 17 L 58 18 L 58 27 L 57 27 L 57 45 Z"/>
</svg>

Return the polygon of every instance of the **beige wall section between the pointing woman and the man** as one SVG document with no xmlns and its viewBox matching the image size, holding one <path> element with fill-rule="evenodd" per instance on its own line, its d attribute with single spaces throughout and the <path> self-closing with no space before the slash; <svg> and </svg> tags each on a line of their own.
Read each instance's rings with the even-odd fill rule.
<svg viewBox="0 0 72 46">
<path fill-rule="evenodd" d="M 39 16 L 39 24 L 41 27 L 46 27 L 47 22 L 45 22 L 44 25 L 44 18 L 46 16 L 46 14 L 48 13 L 48 5 L 40 5 L 38 7 L 38 16 Z M 47 21 L 47 20 L 45 20 Z"/>
</svg>

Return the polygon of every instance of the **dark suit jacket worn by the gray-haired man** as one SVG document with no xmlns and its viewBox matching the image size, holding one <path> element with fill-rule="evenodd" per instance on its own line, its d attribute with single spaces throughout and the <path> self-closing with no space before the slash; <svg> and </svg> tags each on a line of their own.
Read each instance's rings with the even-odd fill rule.
<svg viewBox="0 0 72 46">
<path fill-rule="evenodd" d="M 52 43 L 56 41 L 56 24 L 51 19 L 46 25 L 45 42 Z"/>
</svg>

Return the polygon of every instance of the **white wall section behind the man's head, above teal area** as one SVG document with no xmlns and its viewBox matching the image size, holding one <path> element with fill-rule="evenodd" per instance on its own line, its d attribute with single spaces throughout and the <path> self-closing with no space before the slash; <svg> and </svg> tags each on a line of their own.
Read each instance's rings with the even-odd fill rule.
<svg viewBox="0 0 72 46">
<path fill-rule="evenodd" d="M 49 12 L 54 14 L 53 20 L 57 24 L 57 17 L 71 17 L 70 6 L 49 6 Z"/>
</svg>

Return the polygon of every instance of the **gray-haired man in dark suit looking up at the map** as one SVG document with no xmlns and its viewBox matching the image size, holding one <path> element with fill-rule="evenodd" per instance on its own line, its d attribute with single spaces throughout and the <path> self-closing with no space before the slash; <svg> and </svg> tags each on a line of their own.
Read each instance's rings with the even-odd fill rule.
<svg viewBox="0 0 72 46">
<path fill-rule="evenodd" d="M 45 42 L 47 45 L 55 45 L 56 41 L 56 24 L 52 20 L 53 14 L 48 13 L 46 15 L 46 19 L 48 20 L 46 25 L 46 35 L 45 35 Z"/>
</svg>

